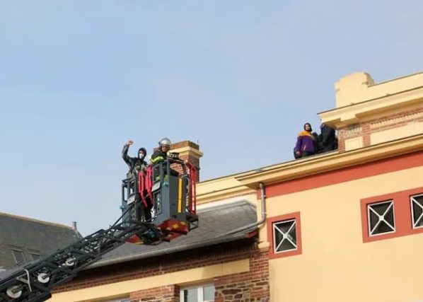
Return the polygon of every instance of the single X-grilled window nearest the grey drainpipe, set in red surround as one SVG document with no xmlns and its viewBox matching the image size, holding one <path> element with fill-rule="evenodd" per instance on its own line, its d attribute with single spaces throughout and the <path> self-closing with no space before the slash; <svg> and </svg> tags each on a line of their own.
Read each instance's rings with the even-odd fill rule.
<svg viewBox="0 0 423 302">
<path fill-rule="evenodd" d="M 297 249 L 296 219 L 273 223 L 274 253 Z"/>
</svg>

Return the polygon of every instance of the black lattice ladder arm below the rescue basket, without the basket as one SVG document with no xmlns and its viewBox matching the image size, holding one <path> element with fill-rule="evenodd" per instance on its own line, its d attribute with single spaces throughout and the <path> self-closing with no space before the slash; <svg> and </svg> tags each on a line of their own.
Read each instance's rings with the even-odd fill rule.
<svg viewBox="0 0 423 302">
<path fill-rule="evenodd" d="M 30 263 L 0 281 L 0 302 L 38 302 L 51 297 L 54 286 L 73 279 L 77 272 L 106 252 L 137 235 L 144 243 L 160 243 L 163 234 L 153 224 L 139 221 L 117 223 L 99 230 L 54 254 Z"/>
</svg>

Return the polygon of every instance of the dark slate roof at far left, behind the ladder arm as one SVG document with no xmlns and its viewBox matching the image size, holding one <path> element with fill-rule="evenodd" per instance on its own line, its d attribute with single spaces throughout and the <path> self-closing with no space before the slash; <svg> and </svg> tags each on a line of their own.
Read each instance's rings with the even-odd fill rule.
<svg viewBox="0 0 423 302">
<path fill-rule="evenodd" d="M 0 269 L 13 270 L 16 257 L 19 265 L 25 265 L 79 238 L 81 234 L 70 226 L 0 213 Z"/>
</svg>

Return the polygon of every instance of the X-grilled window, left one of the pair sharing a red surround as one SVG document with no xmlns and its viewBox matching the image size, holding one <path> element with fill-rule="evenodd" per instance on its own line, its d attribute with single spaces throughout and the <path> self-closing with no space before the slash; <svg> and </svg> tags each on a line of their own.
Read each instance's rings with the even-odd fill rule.
<svg viewBox="0 0 423 302">
<path fill-rule="evenodd" d="M 369 236 L 395 232 L 393 200 L 367 205 Z"/>
</svg>

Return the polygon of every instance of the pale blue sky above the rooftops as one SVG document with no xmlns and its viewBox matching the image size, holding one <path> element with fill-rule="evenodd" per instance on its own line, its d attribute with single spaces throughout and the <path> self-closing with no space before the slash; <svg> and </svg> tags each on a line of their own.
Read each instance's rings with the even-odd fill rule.
<svg viewBox="0 0 423 302">
<path fill-rule="evenodd" d="M 292 159 L 355 71 L 422 71 L 423 2 L 0 0 L 0 211 L 88 235 L 120 215 L 120 151 L 162 137 L 207 180 Z"/>
</svg>

